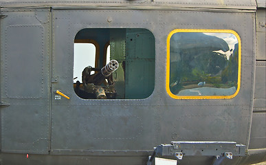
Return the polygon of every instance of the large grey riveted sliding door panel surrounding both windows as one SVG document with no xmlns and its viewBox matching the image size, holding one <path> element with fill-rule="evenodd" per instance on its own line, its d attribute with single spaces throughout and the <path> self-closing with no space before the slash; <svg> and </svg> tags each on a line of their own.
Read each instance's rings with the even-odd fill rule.
<svg viewBox="0 0 266 165">
<path fill-rule="evenodd" d="M 65 98 L 52 100 L 52 150 L 76 149 L 76 154 L 78 151 L 84 154 L 82 153 L 84 150 L 140 151 L 171 140 L 226 140 L 248 144 L 254 83 L 254 72 L 251 72 L 254 70 L 255 59 L 255 26 L 252 19 L 254 13 L 145 10 L 53 10 L 53 12 L 52 76 L 57 79 L 57 83 L 52 85 L 52 89 L 60 89 L 70 97 L 70 100 Z M 112 18 L 113 21 L 108 22 L 108 18 Z M 76 33 L 83 28 L 146 28 L 153 32 L 156 47 L 153 94 L 142 100 L 78 98 L 74 93 L 72 80 L 73 45 Z M 230 100 L 170 98 L 165 89 L 166 39 L 168 34 L 177 28 L 225 29 L 234 30 L 239 34 L 243 67 L 241 90 L 235 98 Z M 54 97 L 54 94 L 52 96 Z M 115 114 L 118 117 L 114 118 Z M 99 118 L 102 116 L 102 125 L 89 128 L 91 124 L 96 123 L 93 116 Z M 124 125 L 125 121 L 135 122 L 137 130 Z M 113 128 L 113 124 L 109 124 L 110 122 L 117 123 L 124 131 L 119 132 L 117 128 Z M 101 126 L 108 131 L 102 131 Z M 130 135 L 127 135 L 128 132 L 125 131 L 127 129 Z M 117 135 L 115 131 L 118 131 Z"/>
</svg>

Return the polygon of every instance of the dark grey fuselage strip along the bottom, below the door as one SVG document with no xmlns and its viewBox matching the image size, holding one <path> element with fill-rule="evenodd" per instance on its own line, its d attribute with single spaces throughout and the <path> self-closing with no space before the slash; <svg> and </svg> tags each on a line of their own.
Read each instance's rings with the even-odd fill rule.
<svg viewBox="0 0 266 165">
<path fill-rule="evenodd" d="M 266 160 L 266 151 L 258 152 L 259 150 L 254 150 L 255 152 L 248 151 L 248 155 L 245 157 L 234 156 L 233 159 L 224 159 L 222 164 L 228 165 L 250 165 L 258 162 L 264 162 Z M 71 151 L 70 151 L 71 152 Z M 101 151 L 104 153 L 104 151 Z M 109 153 L 110 151 L 105 151 Z M 24 154 L 14 154 L 14 153 L 1 153 L 2 164 L 19 164 L 19 165 L 29 165 L 29 164 L 38 164 L 38 165 L 84 165 L 84 164 L 97 164 L 97 165 L 146 165 L 148 160 L 148 155 L 153 153 L 153 150 L 148 153 L 143 153 L 135 156 L 131 153 L 140 153 L 139 151 L 133 152 L 124 152 L 124 156 L 117 156 L 118 151 L 113 153 L 112 156 L 85 156 L 85 155 L 75 155 L 75 151 L 72 150 L 72 155 L 29 155 L 30 159 L 25 159 Z M 133 156 L 134 155 L 134 156 Z M 216 157 L 207 157 L 207 156 L 184 156 L 179 164 L 197 164 L 197 165 L 206 165 L 213 164 Z"/>
</svg>

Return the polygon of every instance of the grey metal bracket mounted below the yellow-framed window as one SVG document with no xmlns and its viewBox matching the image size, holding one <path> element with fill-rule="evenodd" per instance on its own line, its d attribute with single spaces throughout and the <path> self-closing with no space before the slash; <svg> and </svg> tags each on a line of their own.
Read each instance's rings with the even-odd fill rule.
<svg viewBox="0 0 266 165">
<path fill-rule="evenodd" d="M 214 165 L 219 165 L 224 158 L 232 159 L 234 156 L 244 156 L 246 146 L 236 142 L 216 141 L 174 141 L 171 144 L 161 144 L 155 147 L 153 155 L 148 159 L 147 165 L 151 165 L 155 156 L 173 157 L 181 160 L 186 156 L 214 156 Z"/>
</svg>

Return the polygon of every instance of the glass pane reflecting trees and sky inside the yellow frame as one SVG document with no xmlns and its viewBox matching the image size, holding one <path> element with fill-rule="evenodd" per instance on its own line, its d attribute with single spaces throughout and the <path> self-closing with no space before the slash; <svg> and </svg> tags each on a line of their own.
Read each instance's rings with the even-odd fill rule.
<svg viewBox="0 0 266 165">
<path fill-rule="evenodd" d="M 234 34 L 177 32 L 170 38 L 169 87 L 176 96 L 231 96 L 238 66 Z"/>
</svg>

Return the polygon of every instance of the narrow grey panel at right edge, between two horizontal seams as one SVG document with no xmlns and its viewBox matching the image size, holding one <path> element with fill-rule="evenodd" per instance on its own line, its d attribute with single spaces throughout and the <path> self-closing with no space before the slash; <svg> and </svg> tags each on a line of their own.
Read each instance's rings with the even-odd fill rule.
<svg viewBox="0 0 266 165">
<path fill-rule="evenodd" d="M 266 111 L 266 62 L 256 61 L 254 111 Z"/>
</svg>

